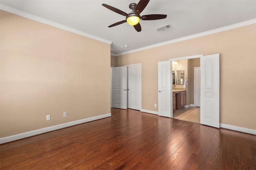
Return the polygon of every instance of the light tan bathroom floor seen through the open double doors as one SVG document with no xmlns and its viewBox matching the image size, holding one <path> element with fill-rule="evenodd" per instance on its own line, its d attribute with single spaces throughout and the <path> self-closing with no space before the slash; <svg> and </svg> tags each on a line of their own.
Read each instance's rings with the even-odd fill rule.
<svg viewBox="0 0 256 170">
<path fill-rule="evenodd" d="M 174 110 L 173 118 L 200 123 L 200 107 L 189 107 Z"/>
</svg>

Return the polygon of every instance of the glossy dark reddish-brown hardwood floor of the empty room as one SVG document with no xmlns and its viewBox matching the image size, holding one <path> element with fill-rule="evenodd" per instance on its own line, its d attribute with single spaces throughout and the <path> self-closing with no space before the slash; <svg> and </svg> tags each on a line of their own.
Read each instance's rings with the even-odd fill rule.
<svg viewBox="0 0 256 170">
<path fill-rule="evenodd" d="M 0 145 L 1 170 L 255 170 L 256 136 L 136 110 Z"/>
</svg>

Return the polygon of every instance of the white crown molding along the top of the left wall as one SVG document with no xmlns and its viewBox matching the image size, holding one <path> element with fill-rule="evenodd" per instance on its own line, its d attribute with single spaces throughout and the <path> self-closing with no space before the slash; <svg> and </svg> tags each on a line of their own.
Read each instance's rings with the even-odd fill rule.
<svg viewBox="0 0 256 170">
<path fill-rule="evenodd" d="M 41 22 L 41 23 L 44 23 L 44 24 L 47 24 L 47 25 L 50 25 L 50 26 L 54 26 L 56 28 L 60 28 L 62 30 L 66 30 L 66 31 L 69 31 L 69 32 L 73 32 L 75 34 L 79 34 L 81 36 L 86 36 L 88 38 L 92 38 L 94 40 L 98 40 L 98 41 L 101 41 L 101 42 L 105 42 L 107 44 L 112 44 L 111 41 L 109 40 L 105 40 L 103 38 L 100 38 L 100 37 L 97 37 L 97 36 L 94 36 L 92 34 L 88 34 L 88 33 L 85 33 L 85 32 L 82 32 L 80 30 L 76 30 L 74 28 L 70 28 L 68 26 L 64 26 L 62 24 L 58 24 L 56 22 L 52 22 L 50 20 L 46 20 L 44 18 L 41 18 L 41 17 L 38 17 L 38 16 L 35 16 L 35 15 L 32 15 L 32 14 L 29 14 L 27 12 L 24 12 L 24 11 L 21 11 L 21 10 L 18 10 L 16 8 L 12 8 L 10 6 L 6 6 L 4 4 L 0 4 L 0 9 L 1 10 L 4 10 L 4 11 L 7 11 L 7 12 L 11 12 L 13 14 L 16 14 L 16 15 L 19 15 L 19 16 L 23 16 L 25 18 L 29 18 L 31 20 L 35 20 L 35 21 L 38 21 L 38 22 Z"/>
</svg>

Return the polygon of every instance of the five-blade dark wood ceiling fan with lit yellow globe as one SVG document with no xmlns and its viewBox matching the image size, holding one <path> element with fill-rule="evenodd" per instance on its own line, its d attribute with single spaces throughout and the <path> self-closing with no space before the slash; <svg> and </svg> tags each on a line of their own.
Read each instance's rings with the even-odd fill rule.
<svg viewBox="0 0 256 170">
<path fill-rule="evenodd" d="M 147 6 L 149 0 L 140 0 L 138 2 L 138 4 L 136 3 L 131 3 L 129 5 L 129 8 L 132 10 L 132 12 L 130 13 L 126 13 L 126 12 L 123 12 L 117 8 L 114 8 L 110 5 L 107 5 L 107 4 L 102 4 L 102 6 L 118 13 L 118 14 L 121 14 L 123 16 L 126 16 L 126 20 L 122 20 L 122 21 L 119 21 L 119 22 L 116 22 L 108 27 L 112 27 L 112 26 L 117 26 L 119 24 L 123 24 L 124 22 L 128 22 L 128 24 L 130 25 L 133 25 L 135 30 L 140 32 L 141 31 L 141 26 L 140 26 L 140 19 L 141 20 L 160 20 L 160 19 L 164 19 L 166 18 L 167 15 L 163 15 L 163 14 L 150 14 L 150 15 L 143 15 L 143 16 L 140 16 L 140 13 L 144 10 L 144 8 Z"/>
</svg>

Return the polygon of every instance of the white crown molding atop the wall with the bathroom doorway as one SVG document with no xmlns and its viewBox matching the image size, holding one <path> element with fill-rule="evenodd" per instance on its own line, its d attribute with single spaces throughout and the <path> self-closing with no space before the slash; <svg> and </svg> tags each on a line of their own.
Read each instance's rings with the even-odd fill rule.
<svg viewBox="0 0 256 170">
<path fill-rule="evenodd" d="M 190 35 L 190 36 L 185 36 L 185 37 L 182 37 L 182 38 L 177 38 L 175 40 L 170 40 L 170 41 L 154 44 L 154 45 L 151 45 L 151 46 L 146 46 L 146 47 L 138 48 L 138 49 L 135 49 L 135 50 L 121 52 L 119 54 L 116 54 L 116 56 L 120 56 L 120 55 L 124 55 L 124 54 L 129 54 L 129 53 L 132 53 L 132 52 L 138 52 L 138 51 L 142 51 L 142 50 L 147 50 L 147 49 L 155 48 L 155 47 L 159 47 L 159 46 L 164 46 L 164 45 L 167 45 L 167 44 L 172 44 L 172 43 L 175 43 L 175 42 L 189 40 L 189 39 L 192 39 L 192 38 L 197 38 L 197 37 L 201 37 L 201 36 L 215 34 L 215 33 L 218 33 L 218 32 L 222 32 L 222 31 L 226 31 L 226 30 L 231 30 L 231 29 L 234 29 L 234 28 L 239 28 L 239 27 L 242 27 L 242 26 L 247 26 L 247 25 L 255 24 L 255 23 L 256 23 L 256 18 L 252 19 L 252 20 L 240 22 L 240 23 L 237 23 L 237 24 L 233 24 L 233 25 L 230 25 L 230 26 L 224 26 L 224 27 L 217 28 L 217 29 L 214 29 L 214 30 L 209 30 L 209 31 L 198 33 L 198 34 L 194 34 L 194 35 Z"/>
</svg>

